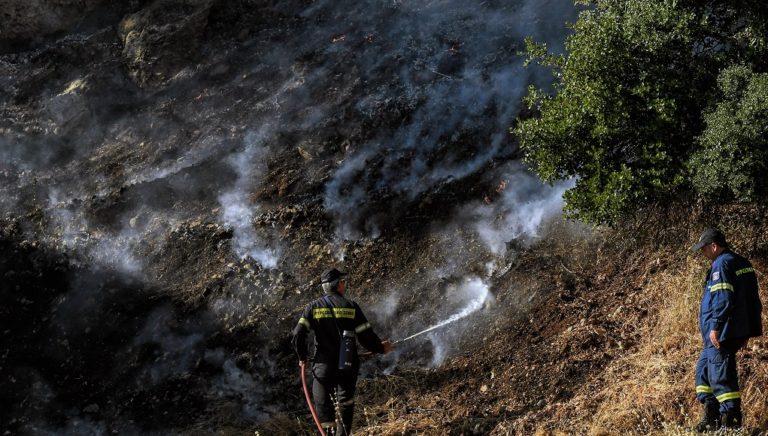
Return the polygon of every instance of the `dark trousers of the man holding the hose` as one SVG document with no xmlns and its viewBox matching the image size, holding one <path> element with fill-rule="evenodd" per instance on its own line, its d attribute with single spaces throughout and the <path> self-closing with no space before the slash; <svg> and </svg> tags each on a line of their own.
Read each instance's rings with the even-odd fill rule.
<svg viewBox="0 0 768 436">
<path fill-rule="evenodd" d="M 332 428 L 336 421 L 334 406 L 339 405 L 341 422 L 336 429 L 337 435 L 352 434 L 352 417 L 355 413 L 355 385 L 357 369 L 339 371 L 334 365 L 315 363 L 312 366 L 314 381 L 312 396 L 315 401 L 317 417 L 324 428 Z"/>
</svg>

